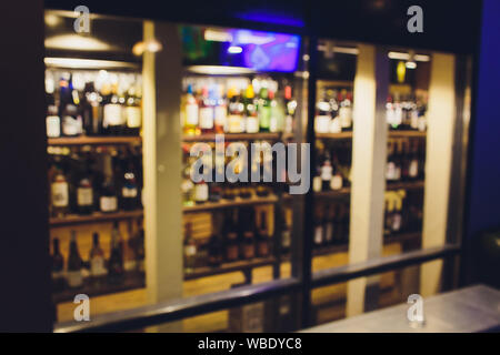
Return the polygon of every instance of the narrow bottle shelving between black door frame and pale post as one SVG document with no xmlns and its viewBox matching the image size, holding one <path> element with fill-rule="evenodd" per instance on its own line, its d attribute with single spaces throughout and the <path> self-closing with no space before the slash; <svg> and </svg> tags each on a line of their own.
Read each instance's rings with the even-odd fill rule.
<svg viewBox="0 0 500 355">
<path fill-rule="evenodd" d="M 350 82 L 318 81 L 314 133 L 317 166 L 313 256 L 347 252 L 351 193 L 352 108 Z"/>
</svg>

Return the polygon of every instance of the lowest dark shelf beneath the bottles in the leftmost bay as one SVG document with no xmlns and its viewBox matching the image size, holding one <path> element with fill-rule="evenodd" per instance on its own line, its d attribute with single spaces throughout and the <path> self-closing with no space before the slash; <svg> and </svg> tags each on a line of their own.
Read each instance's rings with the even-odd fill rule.
<svg viewBox="0 0 500 355">
<path fill-rule="evenodd" d="M 107 295 L 117 292 L 123 292 L 134 288 L 146 287 L 144 273 L 141 272 L 126 272 L 123 282 L 120 284 L 109 284 L 107 276 L 99 278 L 100 285 L 89 277 L 83 280 L 83 286 L 80 288 L 64 288 L 63 291 L 54 292 L 52 294 L 52 301 L 54 304 L 62 302 L 72 302 L 77 294 L 83 293 L 89 297 L 96 297 Z"/>
</svg>

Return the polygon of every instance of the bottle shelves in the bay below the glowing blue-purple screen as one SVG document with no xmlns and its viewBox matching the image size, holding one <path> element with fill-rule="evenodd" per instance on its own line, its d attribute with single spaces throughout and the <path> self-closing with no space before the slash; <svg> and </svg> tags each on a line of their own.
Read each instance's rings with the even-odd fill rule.
<svg viewBox="0 0 500 355">
<path fill-rule="evenodd" d="M 183 91 L 184 278 L 234 271 L 248 274 L 253 267 L 276 265 L 290 246 L 291 210 L 277 207 L 287 183 L 217 182 L 216 174 L 223 175 L 230 166 L 233 173 L 248 176 L 252 171 L 280 173 L 271 145 L 293 136 L 293 79 L 287 74 L 187 75 Z M 218 134 L 223 136 L 222 151 L 216 149 Z M 190 150 L 200 142 L 214 152 L 202 155 L 203 163 L 214 169 L 211 179 L 193 182 L 198 158 L 190 156 Z M 230 144 L 244 146 L 247 159 L 224 154 Z M 260 150 L 254 156 L 250 144 Z"/>
</svg>

